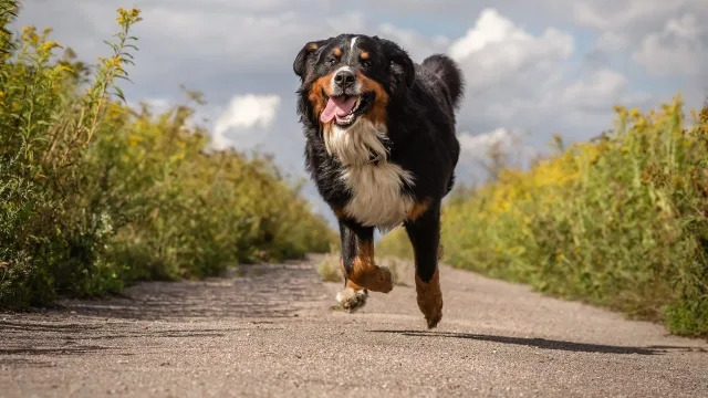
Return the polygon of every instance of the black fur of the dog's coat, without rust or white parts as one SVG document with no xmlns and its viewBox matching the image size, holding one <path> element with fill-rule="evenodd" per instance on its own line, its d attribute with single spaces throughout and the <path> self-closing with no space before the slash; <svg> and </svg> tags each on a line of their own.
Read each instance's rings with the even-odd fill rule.
<svg viewBox="0 0 708 398">
<path fill-rule="evenodd" d="M 405 222 L 414 245 L 418 275 L 428 282 L 437 266 L 440 203 L 452 188 L 460 151 L 455 136 L 455 109 L 462 96 L 462 75 L 455 62 L 445 55 L 429 56 L 417 65 L 392 41 L 356 35 L 358 51 L 369 53 L 365 64 L 356 56 L 348 57 L 353 36 L 343 34 L 308 43 L 293 63 L 302 83 L 298 112 L 306 137 L 306 169 L 335 213 L 343 209 L 351 192 L 341 179 L 342 164 L 325 149 L 319 115 L 314 114 L 309 98 L 313 82 L 346 64 L 385 87 L 391 98 L 386 108 L 388 160 L 409 171 L 415 179 L 414 185 L 404 185 L 403 193 L 417 202 L 429 203 L 423 217 Z M 343 51 L 339 62 L 331 56 L 334 48 Z M 357 242 L 373 239 L 373 228 L 362 226 L 341 211 L 337 217 L 347 269 L 357 255 Z"/>
</svg>

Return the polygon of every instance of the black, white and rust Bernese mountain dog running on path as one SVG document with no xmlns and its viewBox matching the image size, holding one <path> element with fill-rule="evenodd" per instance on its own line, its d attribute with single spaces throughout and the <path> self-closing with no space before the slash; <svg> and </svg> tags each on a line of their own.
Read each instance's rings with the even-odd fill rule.
<svg viewBox="0 0 708 398">
<path fill-rule="evenodd" d="M 440 203 L 460 153 L 460 70 L 440 54 L 415 64 L 396 43 L 364 34 L 310 42 L 293 70 L 301 78 L 306 168 L 340 224 L 345 289 L 337 301 L 354 311 L 367 291 L 391 292 L 391 271 L 374 262 L 374 228 L 403 224 L 415 254 L 418 307 L 428 327 L 437 326 Z"/>
</svg>

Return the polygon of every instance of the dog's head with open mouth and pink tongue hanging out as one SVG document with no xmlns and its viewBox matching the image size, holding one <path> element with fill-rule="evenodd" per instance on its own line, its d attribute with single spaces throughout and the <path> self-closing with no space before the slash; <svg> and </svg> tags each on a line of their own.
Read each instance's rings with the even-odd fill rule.
<svg viewBox="0 0 708 398">
<path fill-rule="evenodd" d="M 310 103 L 313 119 L 323 126 L 348 128 L 358 118 L 386 123 L 392 101 L 414 84 L 415 66 L 394 42 L 362 34 L 305 44 L 293 70 Z"/>
</svg>

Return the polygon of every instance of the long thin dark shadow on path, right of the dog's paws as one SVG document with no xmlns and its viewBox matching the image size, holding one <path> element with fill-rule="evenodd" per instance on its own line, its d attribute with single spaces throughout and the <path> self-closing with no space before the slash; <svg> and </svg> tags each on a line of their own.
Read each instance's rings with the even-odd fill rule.
<svg viewBox="0 0 708 398">
<path fill-rule="evenodd" d="M 546 338 L 525 338 L 525 337 L 508 337 L 494 336 L 472 333 L 456 332 L 425 332 L 425 331 L 367 331 L 371 333 L 389 333 L 410 337 L 448 337 L 448 338 L 466 338 L 480 342 L 492 342 L 501 344 L 516 344 L 527 347 L 535 347 L 541 349 L 558 349 L 574 353 L 597 353 L 597 354 L 638 354 L 638 355 L 660 355 L 669 350 L 681 352 L 699 352 L 706 353 L 702 347 L 685 347 L 685 346 L 613 346 L 604 344 L 574 343 L 564 341 L 554 341 Z"/>
</svg>

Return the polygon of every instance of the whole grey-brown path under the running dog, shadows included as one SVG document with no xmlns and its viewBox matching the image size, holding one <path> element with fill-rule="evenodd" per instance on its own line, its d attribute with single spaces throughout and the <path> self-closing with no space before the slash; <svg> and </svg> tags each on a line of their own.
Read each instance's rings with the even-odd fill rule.
<svg viewBox="0 0 708 398">
<path fill-rule="evenodd" d="M 708 397 L 704 341 L 449 268 L 427 331 L 406 281 L 356 314 L 313 262 L 0 313 L 0 396 Z"/>
</svg>

